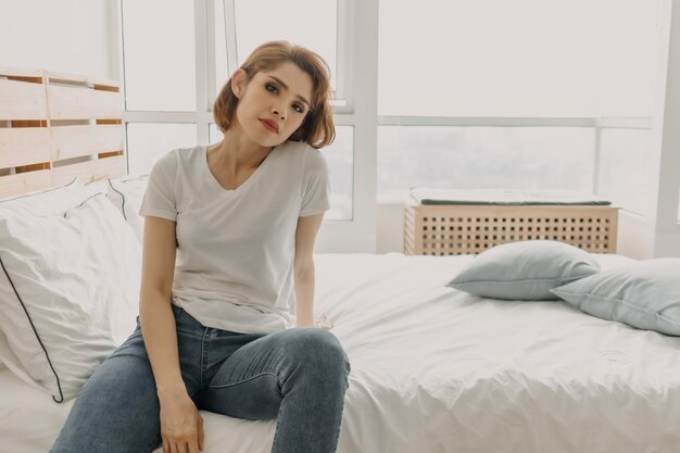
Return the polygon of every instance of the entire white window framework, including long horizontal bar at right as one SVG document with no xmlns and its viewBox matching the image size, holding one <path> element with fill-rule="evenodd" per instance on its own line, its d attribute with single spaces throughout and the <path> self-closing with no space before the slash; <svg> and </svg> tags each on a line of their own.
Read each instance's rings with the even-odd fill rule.
<svg viewBox="0 0 680 453">
<path fill-rule="evenodd" d="M 122 1 L 111 2 L 112 39 L 111 66 L 121 75 L 125 96 L 124 49 L 122 36 Z M 403 200 L 378 198 L 377 194 L 377 131 L 378 126 L 487 126 L 487 127 L 574 127 L 595 128 L 593 155 L 593 193 L 600 186 L 601 136 L 605 128 L 653 129 L 652 117 L 440 117 L 378 116 L 378 1 L 338 0 L 338 97 L 333 118 L 339 126 L 354 128 L 353 143 L 353 215 L 350 221 L 325 221 L 317 239 L 317 251 L 376 251 L 376 213 L 378 203 L 402 204 Z M 211 102 L 215 98 L 215 27 L 211 15 L 216 2 L 234 7 L 234 0 L 193 0 L 197 66 L 196 112 L 124 111 L 123 124 L 128 123 L 193 123 L 197 142 L 209 142 L 209 126 L 213 122 Z M 231 11 L 234 11 L 231 9 Z M 225 21 L 229 21 L 225 11 Z M 230 14 L 234 21 L 234 14 Z M 210 20 L 209 20 L 210 18 Z M 230 32 L 229 32 L 230 30 Z M 227 64 L 236 65 L 234 26 L 227 27 Z M 642 150 L 645 152 L 647 150 Z M 126 140 L 127 153 L 127 140 Z"/>
</svg>

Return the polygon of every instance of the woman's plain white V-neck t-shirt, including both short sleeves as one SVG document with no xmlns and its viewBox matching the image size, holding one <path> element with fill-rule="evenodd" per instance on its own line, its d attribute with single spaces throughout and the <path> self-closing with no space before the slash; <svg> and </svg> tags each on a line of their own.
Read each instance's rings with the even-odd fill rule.
<svg viewBox="0 0 680 453">
<path fill-rule="evenodd" d="M 206 151 L 198 146 L 161 158 L 139 211 L 176 222 L 172 301 L 206 327 L 243 334 L 292 327 L 298 217 L 329 209 L 326 159 L 287 141 L 227 190 Z"/>
</svg>

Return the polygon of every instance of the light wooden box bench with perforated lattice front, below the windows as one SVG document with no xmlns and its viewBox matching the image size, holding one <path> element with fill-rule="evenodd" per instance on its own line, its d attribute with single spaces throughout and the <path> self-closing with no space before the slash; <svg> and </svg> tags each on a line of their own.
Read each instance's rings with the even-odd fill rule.
<svg viewBox="0 0 680 453">
<path fill-rule="evenodd" d="M 616 253 L 618 207 L 609 205 L 419 205 L 404 210 L 404 253 L 476 254 L 505 242 L 552 239 Z"/>
</svg>

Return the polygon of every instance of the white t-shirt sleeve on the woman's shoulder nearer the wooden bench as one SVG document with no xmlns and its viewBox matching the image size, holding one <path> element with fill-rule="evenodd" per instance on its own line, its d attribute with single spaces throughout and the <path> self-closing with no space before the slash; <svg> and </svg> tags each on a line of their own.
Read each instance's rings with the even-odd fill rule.
<svg viewBox="0 0 680 453">
<path fill-rule="evenodd" d="M 330 175 L 326 158 L 314 150 L 306 156 L 300 217 L 330 209 Z"/>
</svg>

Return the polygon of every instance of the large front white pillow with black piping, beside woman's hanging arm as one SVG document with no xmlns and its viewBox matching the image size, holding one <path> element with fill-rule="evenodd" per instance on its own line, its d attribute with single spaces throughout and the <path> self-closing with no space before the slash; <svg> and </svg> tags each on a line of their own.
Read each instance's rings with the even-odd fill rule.
<svg viewBox="0 0 680 453">
<path fill-rule="evenodd" d="M 0 216 L 0 360 L 62 402 L 136 323 L 141 249 L 103 194 L 63 213 Z"/>
</svg>

